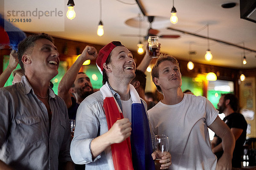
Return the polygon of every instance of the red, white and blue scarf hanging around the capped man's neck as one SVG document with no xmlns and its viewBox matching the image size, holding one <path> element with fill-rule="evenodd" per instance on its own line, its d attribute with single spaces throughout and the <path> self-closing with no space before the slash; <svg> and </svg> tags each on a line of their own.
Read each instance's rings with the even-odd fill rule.
<svg viewBox="0 0 256 170">
<path fill-rule="evenodd" d="M 103 95 L 103 108 L 108 129 L 118 119 L 123 119 L 122 111 L 113 97 L 108 82 L 100 88 Z M 152 159 L 151 134 L 144 105 L 134 86 L 130 84 L 131 94 L 131 142 L 130 137 L 118 144 L 111 144 L 115 170 L 155 170 Z"/>
</svg>

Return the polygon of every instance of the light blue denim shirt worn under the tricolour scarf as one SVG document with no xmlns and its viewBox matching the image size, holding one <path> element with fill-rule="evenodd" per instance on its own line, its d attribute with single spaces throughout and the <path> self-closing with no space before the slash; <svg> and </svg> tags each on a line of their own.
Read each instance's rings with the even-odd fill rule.
<svg viewBox="0 0 256 170">
<path fill-rule="evenodd" d="M 122 108 L 119 94 L 112 88 L 111 92 Z M 147 108 L 144 101 L 143 104 L 144 108 Z M 76 128 L 70 146 L 72 160 L 76 164 L 86 164 L 85 170 L 113 170 L 111 146 L 95 159 L 92 158 L 90 150 L 91 141 L 107 131 L 108 123 L 103 108 L 103 96 L 101 91 L 97 91 L 81 102 L 76 113 Z"/>
</svg>

